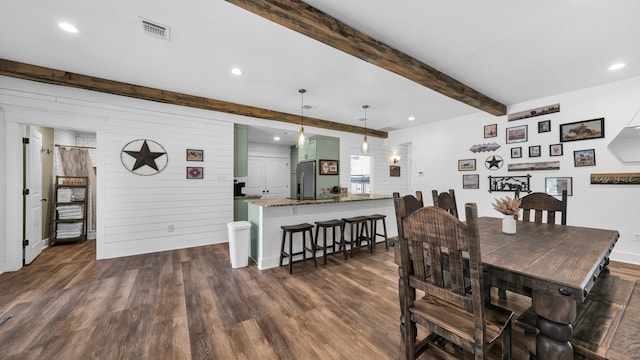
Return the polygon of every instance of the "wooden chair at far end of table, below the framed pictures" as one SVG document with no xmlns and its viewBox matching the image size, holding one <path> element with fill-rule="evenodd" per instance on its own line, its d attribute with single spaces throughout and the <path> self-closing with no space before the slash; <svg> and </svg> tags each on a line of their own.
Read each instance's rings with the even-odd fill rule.
<svg viewBox="0 0 640 360">
<path fill-rule="evenodd" d="M 567 225 L 567 190 L 562 190 L 562 200 L 543 192 L 528 194 L 520 200 L 522 221 L 555 224 L 556 214 L 560 213 L 560 224 Z"/>
</svg>

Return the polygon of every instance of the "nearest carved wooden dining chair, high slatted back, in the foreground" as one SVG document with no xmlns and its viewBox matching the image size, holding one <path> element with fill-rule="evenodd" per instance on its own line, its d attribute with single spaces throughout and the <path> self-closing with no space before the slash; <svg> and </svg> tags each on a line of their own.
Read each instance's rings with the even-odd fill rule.
<svg viewBox="0 0 640 360">
<path fill-rule="evenodd" d="M 404 288 L 401 312 L 406 317 L 402 331 L 407 359 L 429 348 L 446 358 L 462 358 L 459 349 L 463 349 L 475 359 L 485 359 L 498 339 L 502 359 L 511 358 L 513 312 L 485 301 L 476 205 L 465 204 L 465 215 L 466 223 L 439 207 L 427 206 L 402 219 L 400 288 Z M 431 258 L 428 268 L 420 261 L 425 253 Z M 449 281 L 443 271 L 445 261 Z M 414 299 L 416 289 L 425 295 Z M 423 339 L 418 339 L 418 324 L 426 328 L 428 335 Z"/>
</svg>

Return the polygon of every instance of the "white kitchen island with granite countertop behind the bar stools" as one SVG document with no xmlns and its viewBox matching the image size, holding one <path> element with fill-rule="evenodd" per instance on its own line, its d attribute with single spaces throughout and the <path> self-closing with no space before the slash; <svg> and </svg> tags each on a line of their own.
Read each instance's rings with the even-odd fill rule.
<svg viewBox="0 0 640 360">
<path fill-rule="evenodd" d="M 381 214 L 387 216 L 387 236 L 398 233 L 391 195 L 349 195 L 317 200 L 259 199 L 247 200 L 247 203 L 251 222 L 251 258 L 260 270 L 279 266 L 282 225 L 315 225 L 316 221 Z M 381 227 L 378 228 L 380 233 Z M 301 243 L 294 243 L 294 252 L 299 251 Z"/>
</svg>

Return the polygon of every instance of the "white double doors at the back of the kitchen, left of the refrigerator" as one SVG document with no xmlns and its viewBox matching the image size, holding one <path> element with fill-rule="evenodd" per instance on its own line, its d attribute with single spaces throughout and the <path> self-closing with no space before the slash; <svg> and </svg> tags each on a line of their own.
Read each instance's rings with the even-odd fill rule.
<svg viewBox="0 0 640 360">
<path fill-rule="evenodd" d="M 245 194 L 261 195 L 264 199 L 289 197 L 289 159 L 249 157 L 248 164 Z"/>
</svg>

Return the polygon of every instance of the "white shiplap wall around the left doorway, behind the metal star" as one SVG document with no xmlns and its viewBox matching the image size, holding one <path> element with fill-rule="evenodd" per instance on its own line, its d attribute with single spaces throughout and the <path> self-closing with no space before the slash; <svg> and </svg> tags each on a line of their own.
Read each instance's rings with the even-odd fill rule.
<svg viewBox="0 0 640 360">
<path fill-rule="evenodd" d="M 0 237 L 0 272 L 22 266 L 22 214 L 15 211 L 22 201 L 22 124 L 96 133 L 98 258 L 227 241 L 226 223 L 233 221 L 233 122 L 218 119 L 225 114 L 5 77 L 0 83 L 5 114 L 0 135 L 6 144 L 0 163 L 15 170 L 0 182 L 7 199 L 0 220 L 7 224 Z M 120 152 L 135 139 L 162 144 L 167 168 L 154 176 L 127 171 Z M 187 162 L 187 148 L 204 150 L 205 161 Z M 187 166 L 203 166 L 204 179 L 187 180 Z"/>
</svg>

